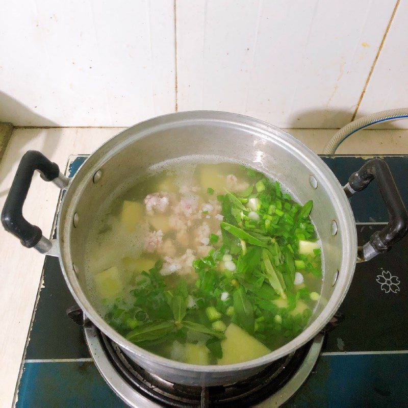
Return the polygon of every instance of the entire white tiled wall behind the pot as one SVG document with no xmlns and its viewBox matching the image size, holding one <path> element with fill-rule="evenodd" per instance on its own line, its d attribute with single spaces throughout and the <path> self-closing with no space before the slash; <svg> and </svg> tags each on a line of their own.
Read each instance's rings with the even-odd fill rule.
<svg viewBox="0 0 408 408">
<path fill-rule="evenodd" d="M 407 19 L 408 0 L 7 0 L 0 120 L 128 126 L 216 109 L 340 127 L 408 106 Z"/>
</svg>

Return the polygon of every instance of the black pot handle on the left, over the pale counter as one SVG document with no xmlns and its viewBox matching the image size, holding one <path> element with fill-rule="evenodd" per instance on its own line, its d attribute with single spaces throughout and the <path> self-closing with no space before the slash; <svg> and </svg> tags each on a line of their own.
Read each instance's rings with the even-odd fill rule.
<svg viewBox="0 0 408 408">
<path fill-rule="evenodd" d="M 21 158 L 13 184 L 2 211 L 2 224 L 6 231 L 20 239 L 23 246 L 35 247 L 41 253 L 52 248 L 52 242 L 42 235 L 41 229 L 30 224 L 22 215 L 22 207 L 30 189 L 34 171 L 40 172 L 41 178 L 52 181 L 59 188 L 66 188 L 69 179 L 60 172 L 57 164 L 48 160 L 41 152 L 29 150 Z"/>
</svg>

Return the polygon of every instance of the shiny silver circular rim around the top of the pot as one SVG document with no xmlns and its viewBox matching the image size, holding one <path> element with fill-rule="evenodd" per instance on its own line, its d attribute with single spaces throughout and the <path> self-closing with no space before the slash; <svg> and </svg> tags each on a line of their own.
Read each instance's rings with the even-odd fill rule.
<svg viewBox="0 0 408 408">
<path fill-rule="evenodd" d="M 246 127 L 249 128 L 249 130 L 252 129 L 253 131 L 256 131 L 258 136 L 269 142 L 278 137 L 280 142 L 285 143 L 288 147 L 290 147 L 292 152 L 296 152 L 298 155 L 301 155 L 303 160 L 308 161 L 314 166 L 315 173 L 319 174 L 319 179 L 324 179 L 323 182 L 325 183 L 326 188 L 329 187 L 331 194 L 336 197 L 334 205 L 339 224 L 339 231 L 342 231 L 342 245 L 344 249 L 342 263 L 339 267 L 338 279 L 333 294 L 331 294 L 330 298 L 327 300 L 327 304 L 316 319 L 297 337 L 286 343 L 284 346 L 279 347 L 278 349 L 273 350 L 272 352 L 258 359 L 249 360 L 242 363 L 228 365 L 193 365 L 181 363 L 154 354 L 134 343 L 131 343 L 129 340 L 126 340 L 98 315 L 92 304 L 89 302 L 87 296 L 79 285 L 78 277 L 72 267 L 72 259 L 69 251 L 69 240 L 63 240 L 64 234 L 60 234 L 61 220 L 66 218 L 67 214 L 69 213 L 68 210 L 72 207 L 73 200 L 71 199 L 68 201 L 66 199 L 68 192 L 75 188 L 75 185 L 80 183 L 81 180 L 85 178 L 84 176 L 90 173 L 90 170 L 92 170 L 93 167 L 88 168 L 89 166 L 87 167 L 87 163 L 90 162 L 92 157 L 95 157 L 98 152 L 105 151 L 110 144 L 113 144 L 111 149 L 106 150 L 105 155 L 97 163 L 97 167 L 99 167 L 101 165 L 100 162 L 105 162 L 108 158 L 113 156 L 107 155 L 108 152 L 112 152 L 115 147 L 118 151 L 121 147 L 129 144 L 120 143 L 120 136 L 122 136 L 122 138 L 126 138 L 126 135 L 123 134 L 132 132 L 132 143 L 135 143 L 138 139 L 144 137 L 149 130 L 153 130 L 155 127 L 163 125 L 169 126 L 170 124 L 187 124 L 188 122 L 194 121 L 236 123 L 240 127 Z M 60 216 L 58 217 L 57 221 L 57 240 L 60 248 L 59 262 L 67 286 L 75 301 L 84 312 L 85 316 L 122 349 L 129 351 L 134 356 L 140 357 L 141 359 L 148 360 L 149 363 L 158 364 L 162 367 L 171 367 L 172 369 L 176 370 L 196 373 L 242 371 L 267 365 L 287 354 L 290 354 L 292 351 L 298 349 L 315 337 L 336 313 L 351 284 L 357 259 L 357 233 L 354 215 L 340 182 L 330 168 L 311 149 L 309 149 L 309 147 L 305 146 L 302 142 L 289 133 L 265 121 L 236 113 L 205 110 L 175 112 L 139 122 L 119 132 L 117 135 L 113 136 L 94 152 L 92 152 L 92 154 L 85 160 L 78 172 L 74 175 L 66 194 L 62 199 L 60 209 Z M 64 224 L 64 231 L 67 233 L 67 236 L 69 236 L 69 230 L 71 227 L 70 224 L 71 223 L 69 222 Z"/>
</svg>

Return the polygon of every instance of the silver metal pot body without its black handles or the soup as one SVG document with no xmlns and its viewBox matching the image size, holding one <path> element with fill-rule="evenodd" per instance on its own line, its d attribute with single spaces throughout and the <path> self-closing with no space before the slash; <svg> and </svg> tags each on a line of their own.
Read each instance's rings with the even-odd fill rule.
<svg viewBox="0 0 408 408">
<path fill-rule="evenodd" d="M 308 327 L 298 337 L 256 360 L 226 366 L 196 366 L 164 359 L 116 333 L 97 314 L 87 295 L 84 243 L 94 214 L 106 197 L 115 194 L 125 183 L 136 181 L 151 166 L 194 155 L 256 168 L 281 182 L 299 202 L 312 199 L 314 203 L 311 218 L 321 239 L 324 260 L 320 300 Z M 96 172 L 99 173 L 94 178 Z M 333 221 L 337 224 L 335 235 Z M 211 111 L 150 119 L 121 132 L 97 149 L 66 191 L 60 207 L 57 240 L 67 285 L 84 314 L 149 372 L 179 384 L 200 386 L 228 384 L 256 374 L 312 339 L 344 299 L 357 256 L 355 223 L 348 199 L 333 172 L 318 156 L 268 123 Z"/>
</svg>

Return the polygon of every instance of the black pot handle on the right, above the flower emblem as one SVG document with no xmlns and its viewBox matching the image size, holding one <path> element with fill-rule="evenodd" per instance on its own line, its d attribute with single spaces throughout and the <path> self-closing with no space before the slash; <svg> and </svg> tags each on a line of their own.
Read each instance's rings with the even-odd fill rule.
<svg viewBox="0 0 408 408">
<path fill-rule="evenodd" d="M 376 231 L 370 240 L 358 248 L 358 262 L 369 261 L 379 253 L 387 252 L 408 231 L 408 213 L 401 199 L 387 163 L 379 158 L 371 159 L 355 173 L 343 187 L 347 197 L 364 190 L 373 180 L 377 181 L 382 199 L 387 206 L 389 221 L 381 231 Z"/>
</svg>

